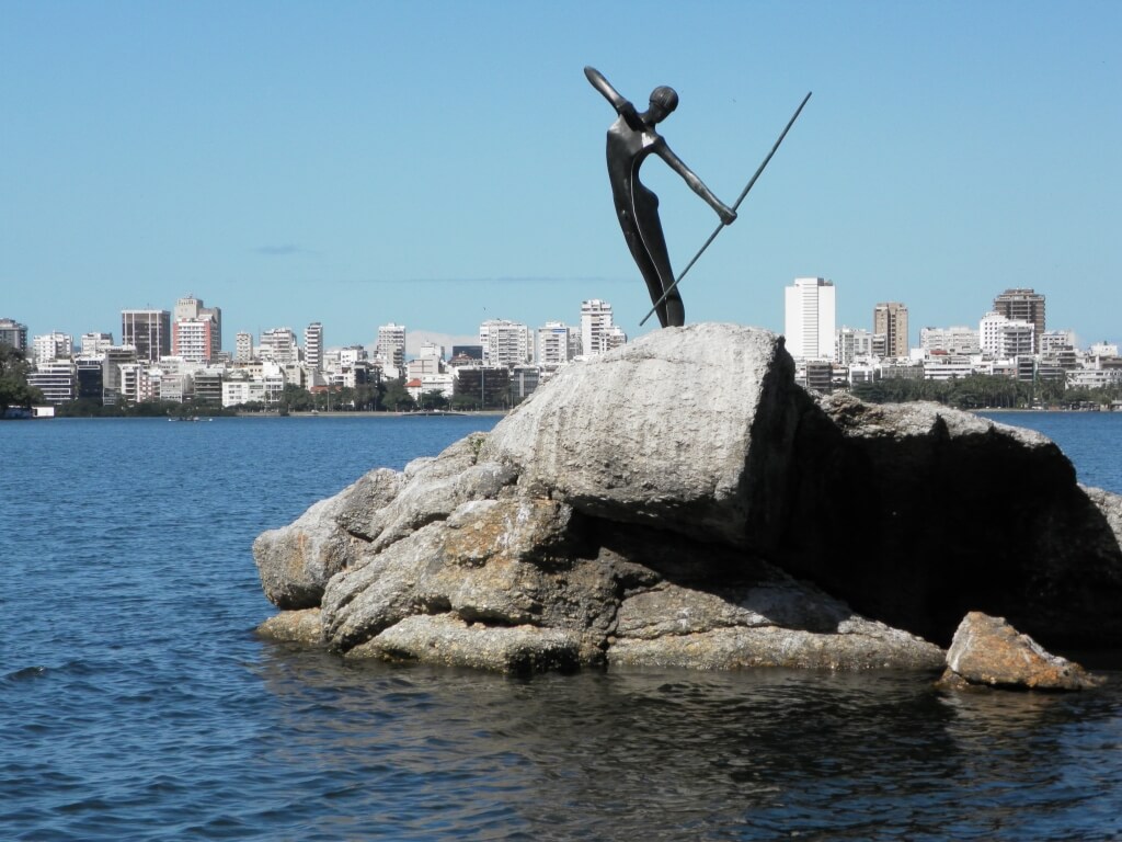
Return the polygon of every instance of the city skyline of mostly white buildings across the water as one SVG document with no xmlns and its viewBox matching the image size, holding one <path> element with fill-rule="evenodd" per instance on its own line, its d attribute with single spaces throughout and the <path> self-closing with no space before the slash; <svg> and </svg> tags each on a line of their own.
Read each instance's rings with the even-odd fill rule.
<svg viewBox="0 0 1122 842">
<path fill-rule="evenodd" d="M 1122 379 L 1118 346 L 1100 342 L 1084 349 L 1075 345 L 1074 331 L 1048 330 L 1047 296 L 1032 289 L 997 293 L 977 330 L 922 328 L 919 348 L 905 344 L 903 302 L 877 303 L 871 331 L 837 326 L 835 293 L 834 283 L 822 277 L 797 277 L 784 287 L 787 349 L 797 382 L 813 390 L 974 374 L 1088 388 Z M 423 335 L 420 354 L 407 354 L 406 326 L 389 322 L 378 327 L 373 354 L 370 346 L 361 345 L 325 349 L 323 324 L 315 321 L 304 329 L 303 346 L 291 327 L 263 331 L 256 347 L 251 333 L 239 331 L 234 353 L 215 358 L 221 314 L 221 308 L 205 308 L 193 295 L 177 300 L 174 321 L 167 310 L 122 310 L 122 345 L 114 346 L 109 333 L 88 332 L 76 355 L 65 333 L 35 336 L 28 382 L 52 404 L 77 396 L 104 405 L 154 399 L 220 401 L 223 408 L 277 405 L 289 386 L 297 386 L 359 390 L 352 393 L 353 406 L 367 405 L 374 395 L 367 387 L 384 377 L 401 377 L 413 400 L 439 392 L 441 400 L 475 401 L 479 395 L 480 401 L 502 402 L 522 400 L 571 361 L 627 341 L 614 323 L 611 304 L 592 299 L 581 302 L 579 328 L 548 321 L 535 330 L 508 319 L 487 319 L 479 324 L 478 345 L 457 346 L 445 338 L 433 344 L 433 337 Z M 168 335 L 174 337 L 172 354 Z M 17 347 L 27 349 L 26 337 L 25 326 L 0 318 L 0 339 L 15 338 Z M 485 377 L 485 368 L 493 375 Z"/>
</svg>

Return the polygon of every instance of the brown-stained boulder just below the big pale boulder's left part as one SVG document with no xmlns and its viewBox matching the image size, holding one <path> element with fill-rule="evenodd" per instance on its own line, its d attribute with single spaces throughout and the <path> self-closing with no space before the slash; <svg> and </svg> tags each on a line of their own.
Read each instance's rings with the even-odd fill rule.
<svg viewBox="0 0 1122 842">
<path fill-rule="evenodd" d="M 323 633 L 353 649 L 416 614 L 495 626 L 564 629 L 592 661 L 615 613 L 610 569 L 573 557 L 571 507 L 542 498 L 465 503 L 450 518 L 370 550 L 333 577 Z"/>
</svg>

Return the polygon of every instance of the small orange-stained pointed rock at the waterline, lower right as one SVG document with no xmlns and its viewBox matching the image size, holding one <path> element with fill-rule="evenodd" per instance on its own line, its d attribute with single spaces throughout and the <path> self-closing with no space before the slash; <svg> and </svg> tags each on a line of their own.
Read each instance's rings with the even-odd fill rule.
<svg viewBox="0 0 1122 842">
<path fill-rule="evenodd" d="M 1100 680 L 1078 663 L 1051 655 L 1004 617 L 967 614 L 947 651 L 945 687 L 983 685 L 1038 690 L 1080 690 Z"/>
</svg>

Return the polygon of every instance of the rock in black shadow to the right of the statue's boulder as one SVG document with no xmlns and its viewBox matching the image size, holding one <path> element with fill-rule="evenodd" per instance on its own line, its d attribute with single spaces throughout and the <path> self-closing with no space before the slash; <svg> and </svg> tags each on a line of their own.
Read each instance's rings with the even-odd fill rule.
<svg viewBox="0 0 1122 842">
<path fill-rule="evenodd" d="M 1039 433 L 835 394 L 800 422 L 792 491 L 775 560 L 863 614 L 941 646 L 973 610 L 1051 647 L 1122 644 L 1119 498 Z"/>
</svg>

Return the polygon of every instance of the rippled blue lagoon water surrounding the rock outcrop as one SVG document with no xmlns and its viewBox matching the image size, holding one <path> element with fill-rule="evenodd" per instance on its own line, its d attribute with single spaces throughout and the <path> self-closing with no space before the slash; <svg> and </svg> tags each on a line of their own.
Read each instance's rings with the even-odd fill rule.
<svg viewBox="0 0 1122 842">
<path fill-rule="evenodd" d="M 1122 413 L 995 418 L 1122 493 Z M 493 423 L 0 424 L 0 839 L 1122 839 L 1122 672 L 513 679 L 252 634 L 259 532 Z"/>
</svg>

